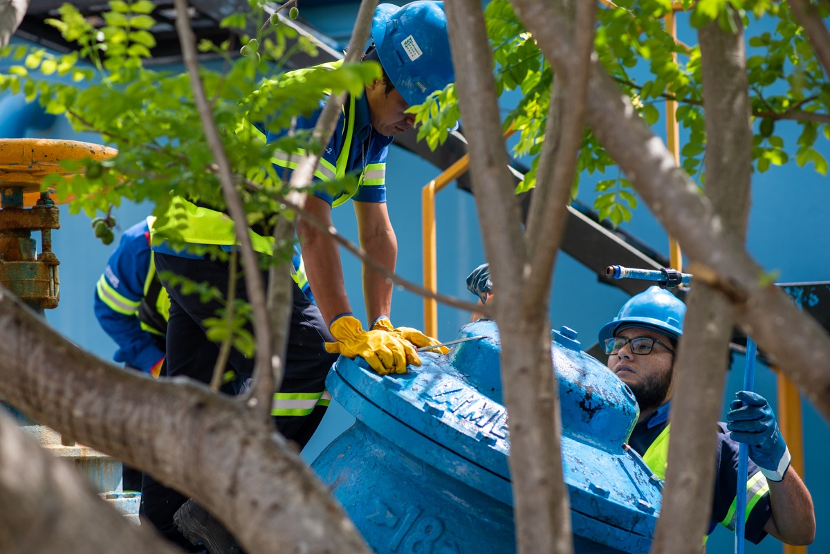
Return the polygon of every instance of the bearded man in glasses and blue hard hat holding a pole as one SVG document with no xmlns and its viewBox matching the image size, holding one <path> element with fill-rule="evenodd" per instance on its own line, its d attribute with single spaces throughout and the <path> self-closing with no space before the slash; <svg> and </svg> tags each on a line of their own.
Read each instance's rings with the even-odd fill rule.
<svg viewBox="0 0 830 554">
<path fill-rule="evenodd" d="M 674 362 L 683 335 L 686 305 L 652 286 L 629 299 L 616 318 L 599 330 L 608 367 L 631 388 L 640 416 L 628 442 L 664 479 L 674 394 Z M 721 523 L 735 529 L 738 443 L 749 445 L 746 475 L 746 538 L 758 543 L 767 533 L 789 544 L 809 544 L 816 532 L 813 499 L 790 465 L 775 415 L 763 396 L 739 391 L 726 423 L 717 425 L 715 495 L 707 535 Z"/>
</svg>

